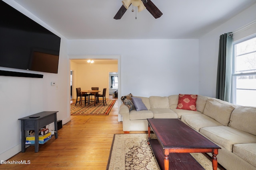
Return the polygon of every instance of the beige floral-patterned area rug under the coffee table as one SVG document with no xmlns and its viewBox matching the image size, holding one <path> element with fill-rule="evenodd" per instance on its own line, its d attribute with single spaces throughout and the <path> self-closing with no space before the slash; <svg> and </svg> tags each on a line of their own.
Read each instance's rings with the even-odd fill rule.
<svg viewBox="0 0 256 170">
<path fill-rule="evenodd" d="M 150 138 L 156 139 L 156 136 L 150 134 Z M 160 170 L 147 140 L 146 133 L 115 134 L 106 170 Z M 191 155 L 206 170 L 212 170 L 212 162 L 204 154 Z"/>
</svg>

